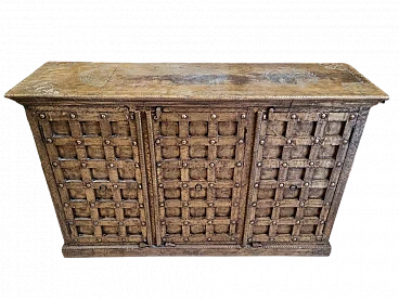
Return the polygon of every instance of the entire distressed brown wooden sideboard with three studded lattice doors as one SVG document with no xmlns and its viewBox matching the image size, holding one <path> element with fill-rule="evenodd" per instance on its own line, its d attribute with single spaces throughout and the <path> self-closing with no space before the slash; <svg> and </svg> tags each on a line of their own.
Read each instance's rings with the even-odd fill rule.
<svg viewBox="0 0 399 299">
<path fill-rule="evenodd" d="M 64 259 L 316 257 L 371 108 L 345 63 L 48 62 L 26 109 Z"/>
</svg>

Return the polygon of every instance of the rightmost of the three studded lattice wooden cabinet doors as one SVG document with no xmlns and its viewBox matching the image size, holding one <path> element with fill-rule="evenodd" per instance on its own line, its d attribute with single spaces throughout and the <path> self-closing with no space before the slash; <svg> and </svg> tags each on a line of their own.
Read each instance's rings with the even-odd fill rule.
<svg viewBox="0 0 399 299">
<path fill-rule="evenodd" d="M 357 110 L 339 109 L 257 114 L 244 243 L 329 240 L 325 224 L 334 222 L 329 211 L 357 118 Z"/>
</svg>

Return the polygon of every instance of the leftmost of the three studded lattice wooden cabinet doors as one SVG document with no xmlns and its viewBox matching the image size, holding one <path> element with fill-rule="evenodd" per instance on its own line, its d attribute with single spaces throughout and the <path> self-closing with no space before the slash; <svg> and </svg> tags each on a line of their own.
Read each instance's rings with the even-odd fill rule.
<svg viewBox="0 0 399 299">
<path fill-rule="evenodd" d="M 60 194 L 65 242 L 151 245 L 140 113 L 42 108 L 36 119 L 54 178 L 48 184 Z"/>
</svg>

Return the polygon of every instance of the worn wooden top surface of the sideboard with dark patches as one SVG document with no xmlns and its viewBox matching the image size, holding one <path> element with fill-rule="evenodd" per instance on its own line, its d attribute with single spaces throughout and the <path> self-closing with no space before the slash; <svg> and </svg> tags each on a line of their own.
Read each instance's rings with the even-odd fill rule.
<svg viewBox="0 0 399 299">
<path fill-rule="evenodd" d="M 46 62 L 11 88 L 24 99 L 388 99 L 346 63 Z"/>
</svg>

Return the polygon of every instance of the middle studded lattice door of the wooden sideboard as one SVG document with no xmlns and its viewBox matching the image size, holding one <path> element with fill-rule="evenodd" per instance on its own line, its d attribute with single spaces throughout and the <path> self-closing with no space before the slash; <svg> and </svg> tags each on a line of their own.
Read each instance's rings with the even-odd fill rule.
<svg viewBox="0 0 399 299">
<path fill-rule="evenodd" d="M 241 244 L 248 112 L 157 108 L 147 117 L 156 243 Z"/>
</svg>

